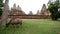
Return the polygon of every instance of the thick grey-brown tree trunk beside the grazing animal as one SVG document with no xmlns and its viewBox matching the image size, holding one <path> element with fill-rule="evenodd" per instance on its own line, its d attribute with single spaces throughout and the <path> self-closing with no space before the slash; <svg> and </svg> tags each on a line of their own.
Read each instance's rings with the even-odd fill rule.
<svg viewBox="0 0 60 34">
<path fill-rule="evenodd" d="M 7 19 L 8 19 L 8 11 L 9 11 L 9 6 L 8 6 L 9 0 L 5 0 L 4 8 L 3 8 L 3 13 L 1 16 L 1 24 L 3 26 L 6 25 Z"/>
</svg>

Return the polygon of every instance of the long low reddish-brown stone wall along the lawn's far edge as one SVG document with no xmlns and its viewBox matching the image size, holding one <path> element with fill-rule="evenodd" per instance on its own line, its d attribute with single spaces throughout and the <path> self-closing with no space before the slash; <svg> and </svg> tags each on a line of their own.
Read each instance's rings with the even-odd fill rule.
<svg viewBox="0 0 60 34">
<path fill-rule="evenodd" d="M 10 15 L 9 18 L 21 18 L 21 19 L 50 19 L 49 15 Z"/>
</svg>

